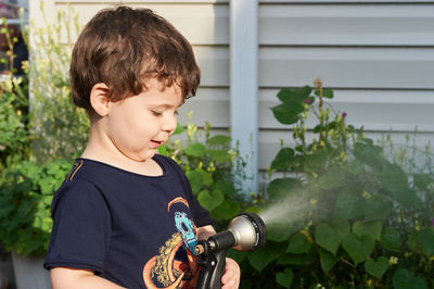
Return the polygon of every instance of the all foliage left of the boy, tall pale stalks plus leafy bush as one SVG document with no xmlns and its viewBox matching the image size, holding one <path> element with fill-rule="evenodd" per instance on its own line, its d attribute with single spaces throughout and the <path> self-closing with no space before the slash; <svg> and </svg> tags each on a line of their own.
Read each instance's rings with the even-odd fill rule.
<svg viewBox="0 0 434 289">
<path fill-rule="evenodd" d="M 34 27 L 37 50 L 30 51 L 31 67 L 23 63 L 25 75 L 8 71 L 0 81 L 0 242 L 21 254 L 47 250 L 51 199 L 71 167 L 62 159 L 72 160 L 86 144 L 87 116 L 71 103 L 69 47 L 60 41 L 63 23 L 69 30 L 74 22 L 63 12 L 58 21 L 40 29 Z M 27 42 L 28 28 L 22 30 Z M 8 29 L 1 33 L 7 35 L 10 49 L 3 62 L 13 62 L 16 40 Z"/>
</svg>

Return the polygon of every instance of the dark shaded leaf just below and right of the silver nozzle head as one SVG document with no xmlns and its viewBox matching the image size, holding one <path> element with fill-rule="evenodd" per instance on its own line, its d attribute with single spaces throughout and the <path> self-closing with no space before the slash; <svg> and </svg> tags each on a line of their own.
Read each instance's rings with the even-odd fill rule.
<svg viewBox="0 0 434 289">
<path fill-rule="evenodd" d="M 277 260 L 285 250 L 285 243 L 267 242 L 257 251 L 250 252 L 247 260 L 260 273 L 268 264 Z"/>
</svg>

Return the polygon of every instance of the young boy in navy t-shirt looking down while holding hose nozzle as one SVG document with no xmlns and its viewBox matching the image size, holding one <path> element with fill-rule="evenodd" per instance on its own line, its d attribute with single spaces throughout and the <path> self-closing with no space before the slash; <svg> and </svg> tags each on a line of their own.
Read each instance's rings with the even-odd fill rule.
<svg viewBox="0 0 434 289">
<path fill-rule="evenodd" d="M 155 154 L 194 96 L 190 43 L 146 9 L 100 11 L 73 50 L 74 103 L 89 141 L 52 203 L 44 267 L 58 288 L 194 288 L 194 246 L 215 234 L 182 169 Z M 238 288 L 227 259 L 224 288 Z"/>
</svg>

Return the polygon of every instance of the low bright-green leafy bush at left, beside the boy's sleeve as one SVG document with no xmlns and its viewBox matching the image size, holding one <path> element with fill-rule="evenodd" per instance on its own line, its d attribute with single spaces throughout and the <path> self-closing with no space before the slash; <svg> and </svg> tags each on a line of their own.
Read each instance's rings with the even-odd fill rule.
<svg viewBox="0 0 434 289">
<path fill-rule="evenodd" d="M 23 255 L 43 254 L 51 234 L 51 201 L 71 163 L 47 165 L 23 161 L 10 167 L 0 180 L 0 240 L 8 251 Z"/>
</svg>

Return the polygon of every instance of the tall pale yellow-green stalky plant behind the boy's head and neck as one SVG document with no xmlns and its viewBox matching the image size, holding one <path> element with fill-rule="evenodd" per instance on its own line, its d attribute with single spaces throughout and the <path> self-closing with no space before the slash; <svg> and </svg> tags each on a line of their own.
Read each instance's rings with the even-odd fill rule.
<svg viewBox="0 0 434 289">
<path fill-rule="evenodd" d="M 87 143 L 89 120 L 84 110 L 71 101 L 68 66 L 71 63 L 72 36 L 80 30 L 78 14 L 71 9 L 59 11 L 55 23 L 44 16 L 42 27 L 31 23 L 30 50 L 33 96 L 34 150 L 39 163 L 71 159 L 82 151 Z M 66 39 L 66 40 L 63 40 Z M 36 85 L 37 84 L 37 85 Z"/>
</svg>

